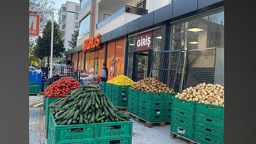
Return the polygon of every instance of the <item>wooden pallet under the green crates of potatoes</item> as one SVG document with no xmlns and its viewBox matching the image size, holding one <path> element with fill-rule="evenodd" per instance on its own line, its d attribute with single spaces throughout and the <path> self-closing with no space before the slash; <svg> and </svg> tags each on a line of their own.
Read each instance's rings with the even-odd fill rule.
<svg viewBox="0 0 256 144">
<path fill-rule="evenodd" d="M 135 120 L 136 122 L 141 123 L 142 125 L 144 125 L 144 126 L 146 126 L 146 127 L 148 127 L 148 128 L 153 127 L 153 124 L 154 124 L 154 123 L 157 123 L 158 126 L 163 127 L 163 126 L 165 126 L 165 123 L 171 122 L 171 121 L 148 122 L 148 121 L 146 121 L 145 119 L 142 119 L 142 118 L 140 118 L 140 117 L 138 117 L 138 116 L 136 116 L 136 115 L 134 115 L 134 114 L 131 114 L 131 113 L 129 113 L 129 112 L 127 112 L 127 114 L 128 114 L 130 117 L 132 117 L 132 119 L 134 119 L 133 117 L 135 117 L 134 120 Z"/>
</svg>

